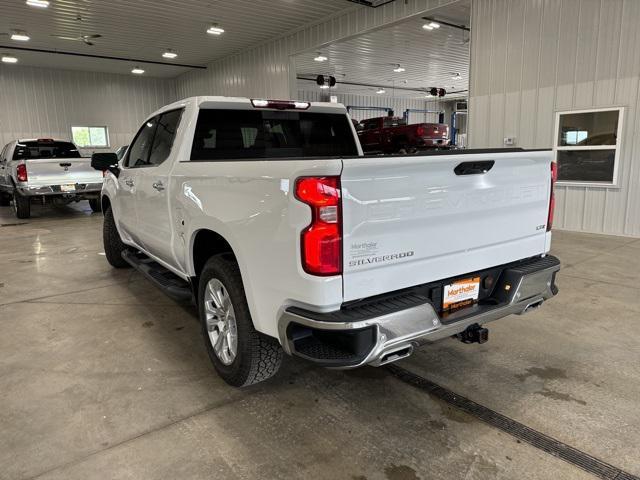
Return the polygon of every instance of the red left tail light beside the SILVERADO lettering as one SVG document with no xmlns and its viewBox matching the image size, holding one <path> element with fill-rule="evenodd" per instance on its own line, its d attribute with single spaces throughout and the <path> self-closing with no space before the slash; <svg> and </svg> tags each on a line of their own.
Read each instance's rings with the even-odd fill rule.
<svg viewBox="0 0 640 480">
<path fill-rule="evenodd" d="M 302 231 L 302 267 L 311 275 L 342 273 L 340 177 L 303 177 L 296 197 L 311 207 L 311 224 Z"/>
</svg>

